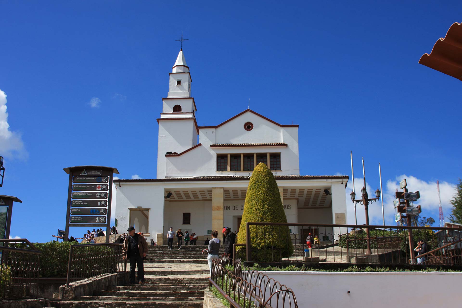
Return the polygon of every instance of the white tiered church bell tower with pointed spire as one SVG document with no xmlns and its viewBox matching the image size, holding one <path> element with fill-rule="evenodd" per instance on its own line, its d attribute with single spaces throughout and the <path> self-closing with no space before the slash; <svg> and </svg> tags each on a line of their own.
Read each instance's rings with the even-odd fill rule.
<svg viewBox="0 0 462 308">
<path fill-rule="evenodd" d="M 167 153 L 181 153 L 197 144 L 199 128 L 195 119 L 197 111 L 191 97 L 191 74 L 184 58 L 183 49 L 176 57 L 169 73 L 169 92 L 162 98 L 157 151 L 157 178 L 166 176 Z M 171 153 L 170 153 L 171 152 Z"/>
</svg>

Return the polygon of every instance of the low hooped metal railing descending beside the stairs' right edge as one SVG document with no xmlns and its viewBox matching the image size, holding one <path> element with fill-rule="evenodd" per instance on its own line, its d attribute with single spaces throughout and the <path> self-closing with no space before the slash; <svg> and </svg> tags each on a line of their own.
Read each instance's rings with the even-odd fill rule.
<svg viewBox="0 0 462 308">
<path fill-rule="evenodd" d="M 239 258 L 233 261 L 223 255 L 213 260 L 209 284 L 234 308 L 298 308 L 293 291 L 273 278 L 258 271 L 243 267 Z"/>
</svg>

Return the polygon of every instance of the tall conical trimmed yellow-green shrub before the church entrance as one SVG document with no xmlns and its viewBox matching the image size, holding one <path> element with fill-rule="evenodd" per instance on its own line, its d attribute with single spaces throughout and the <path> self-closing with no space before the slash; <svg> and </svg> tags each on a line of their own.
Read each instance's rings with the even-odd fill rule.
<svg viewBox="0 0 462 308">
<path fill-rule="evenodd" d="M 278 184 L 271 170 L 259 163 L 250 177 L 237 243 L 247 241 L 246 223 L 287 223 Z M 293 253 L 288 226 L 250 226 L 252 261 L 276 262 Z M 245 248 L 237 256 L 245 260 Z"/>
</svg>

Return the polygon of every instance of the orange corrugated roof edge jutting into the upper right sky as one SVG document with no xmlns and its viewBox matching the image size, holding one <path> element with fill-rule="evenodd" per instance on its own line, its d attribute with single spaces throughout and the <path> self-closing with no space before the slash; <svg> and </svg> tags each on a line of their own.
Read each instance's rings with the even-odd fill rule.
<svg viewBox="0 0 462 308">
<path fill-rule="evenodd" d="M 452 24 L 446 36 L 435 43 L 430 54 L 422 55 L 419 63 L 462 80 L 462 24 Z"/>
</svg>

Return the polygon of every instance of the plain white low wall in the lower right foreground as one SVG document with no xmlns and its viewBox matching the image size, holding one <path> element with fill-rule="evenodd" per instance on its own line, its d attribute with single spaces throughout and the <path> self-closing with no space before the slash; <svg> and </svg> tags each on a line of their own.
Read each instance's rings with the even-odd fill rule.
<svg viewBox="0 0 462 308">
<path fill-rule="evenodd" d="M 462 273 L 262 272 L 291 288 L 298 307 L 459 307 Z M 348 290 L 350 293 L 347 293 Z"/>
</svg>

